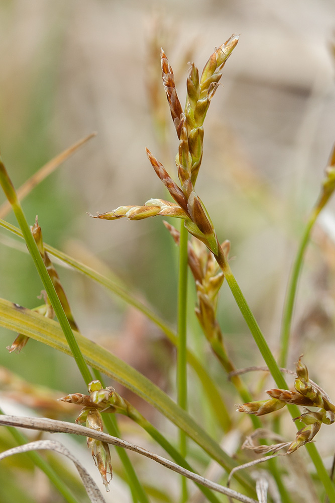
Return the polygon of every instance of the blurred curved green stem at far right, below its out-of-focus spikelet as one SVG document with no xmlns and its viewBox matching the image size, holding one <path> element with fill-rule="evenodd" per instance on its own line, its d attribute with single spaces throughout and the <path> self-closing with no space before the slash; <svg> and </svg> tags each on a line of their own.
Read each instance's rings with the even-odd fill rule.
<svg viewBox="0 0 335 503">
<path fill-rule="evenodd" d="M 319 212 L 320 209 L 316 207 L 310 214 L 307 225 L 301 238 L 300 246 L 298 248 L 295 261 L 292 266 L 283 310 L 283 321 L 282 321 L 282 330 L 280 338 L 280 355 L 279 355 L 280 367 L 286 366 L 291 324 L 292 324 L 292 315 L 293 315 L 295 296 L 297 292 L 298 280 L 302 269 L 303 257 L 305 254 L 306 246 L 309 241 L 310 232 L 317 219 Z"/>
</svg>

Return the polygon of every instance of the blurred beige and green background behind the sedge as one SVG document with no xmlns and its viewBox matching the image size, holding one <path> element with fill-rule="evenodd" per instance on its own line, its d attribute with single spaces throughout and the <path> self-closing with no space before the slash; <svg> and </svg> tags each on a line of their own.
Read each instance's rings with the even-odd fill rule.
<svg viewBox="0 0 335 503">
<path fill-rule="evenodd" d="M 335 139 L 334 29 L 331 0 L 2 0 L 0 146 L 15 186 L 97 131 L 24 200 L 29 222 L 38 215 L 45 242 L 107 265 L 175 327 L 177 250 L 162 220 L 108 222 L 86 212 L 167 198 L 145 154 L 148 147 L 176 175 L 160 47 L 184 103 L 188 61 L 201 70 L 239 34 L 205 121 L 197 192 L 219 238 L 231 241 L 233 271 L 276 353 L 290 266 Z M 330 202 L 308 248 L 289 357 L 292 368 L 303 352 L 321 386 L 335 377 L 334 210 Z M 25 246 L 5 231 L 0 240 L 0 296 L 36 307 L 41 284 Z M 174 351 L 162 334 L 86 278 L 58 272 L 82 333 L 169 390 Z M 190 316 L 190 345 L 225 382 Z M 218 317 L 236 365 L 262 365 L 226 285 Z M 0 365 L 32 383 L 84 392 L 68 357 L 35 341 L 10 355 L 15 334 L 0 334 Z"/>
</svg>

